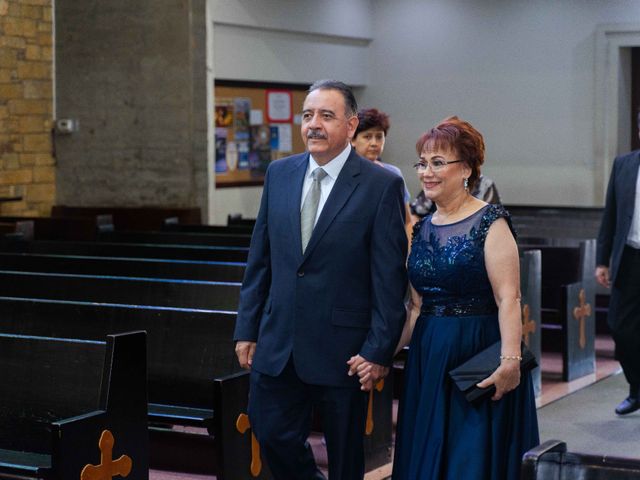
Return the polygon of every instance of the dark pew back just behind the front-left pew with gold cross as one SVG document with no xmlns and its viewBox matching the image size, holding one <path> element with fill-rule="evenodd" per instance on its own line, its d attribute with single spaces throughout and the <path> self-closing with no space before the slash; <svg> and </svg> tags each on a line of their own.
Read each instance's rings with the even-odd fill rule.
<svg viewBox="0 0 640 480">
<path fill-rule="evenodd" d="M 233 313 L 140 306 L 99 306 L 0 298 L 0 330 L 53 337 L 104 338 L 147 332 L 149 402 L 212 408 L 215 377 L 241 371 Z"/>
</svg>

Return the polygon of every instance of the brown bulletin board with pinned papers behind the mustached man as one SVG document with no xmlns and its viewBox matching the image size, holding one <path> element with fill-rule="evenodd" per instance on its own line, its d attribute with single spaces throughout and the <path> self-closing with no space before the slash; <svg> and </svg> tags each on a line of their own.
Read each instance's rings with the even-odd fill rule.
<svg viewBox="0 0 640 480">
<path fill-rule="evenodd" d="M 262 185 L 270 162 L 305 147 L 300 113 L 308 85 L 216 81 L 216 188 Z"/>
</svg>

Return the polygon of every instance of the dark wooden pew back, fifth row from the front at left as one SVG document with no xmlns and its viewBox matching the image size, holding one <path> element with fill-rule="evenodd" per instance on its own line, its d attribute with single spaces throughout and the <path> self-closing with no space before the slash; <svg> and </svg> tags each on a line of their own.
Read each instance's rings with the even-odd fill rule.
<svg viewBox="0 0 640 480">
<path fill-rule="evenodd" d="M 0 251 L 82 255 L 94 257 L 154 258 L 212 262 L 247 261 L 247 247 L 211 247 L 200 245 L 153 245 L 107 242 L 0 241 Z"/>
</svg>

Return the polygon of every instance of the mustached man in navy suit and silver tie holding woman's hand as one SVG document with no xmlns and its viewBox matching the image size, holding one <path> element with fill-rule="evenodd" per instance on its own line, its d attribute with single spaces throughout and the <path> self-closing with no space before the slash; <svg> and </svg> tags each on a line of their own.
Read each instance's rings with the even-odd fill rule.
<svg viewBox="0 0 640 480">
<path fill-rule="evenodd" d="M 307 442 L 312 409 L 331 480 L 363 478 L 366 393 L 347 361 L 384 376 L 405 321 L 404 187 L 352 150 L 357 110 L 342 82 L 310 87 L 307 152 L 269 166 L 251 239 L 234 340 L 276 479 L 324 478 Z"/>
</svg>

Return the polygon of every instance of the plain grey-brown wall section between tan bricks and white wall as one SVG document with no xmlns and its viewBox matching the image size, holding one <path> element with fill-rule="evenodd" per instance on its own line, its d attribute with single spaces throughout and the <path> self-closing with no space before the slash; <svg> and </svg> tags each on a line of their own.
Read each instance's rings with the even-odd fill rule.
<svg viewBox="0 0 640 480">
<path fill-rule="evenodd" d="M 207 207 L 205 0 L 56 0 L 56 201 Z"/>
</svg>

